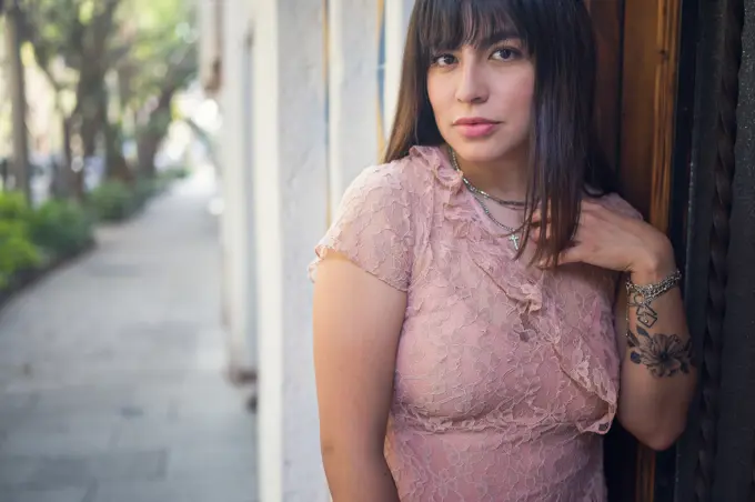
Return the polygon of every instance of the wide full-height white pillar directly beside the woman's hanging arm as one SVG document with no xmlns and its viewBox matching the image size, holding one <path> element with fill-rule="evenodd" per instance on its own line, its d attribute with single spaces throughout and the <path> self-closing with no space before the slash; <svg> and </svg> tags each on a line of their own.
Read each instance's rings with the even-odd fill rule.
<svg viewBox="0 0 755 502">
<path fill-rule="evenodd" d="M 262 502 L 325 502 L 306 265 L 326 230 L 324 8 L 254 6 L 259 482 Z"/>
</svg>

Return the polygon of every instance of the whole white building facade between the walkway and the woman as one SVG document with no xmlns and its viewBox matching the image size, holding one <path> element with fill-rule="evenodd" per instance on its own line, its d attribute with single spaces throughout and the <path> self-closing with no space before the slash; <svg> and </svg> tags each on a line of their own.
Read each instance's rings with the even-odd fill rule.
<svg viewBox="0 0 755 502">
<path fill-rule="evenodd" d="M 413 0 L 198 1 L 200 77 L 223 116 L 229 363 L 259 373 L 259 496 L 326 501 L 306 267 L 382 153 Z"/>
</svg>

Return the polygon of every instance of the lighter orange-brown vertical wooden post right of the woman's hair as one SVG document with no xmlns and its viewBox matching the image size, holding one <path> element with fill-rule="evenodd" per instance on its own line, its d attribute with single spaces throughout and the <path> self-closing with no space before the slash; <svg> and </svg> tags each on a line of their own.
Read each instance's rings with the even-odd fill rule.
<svg viewBox="0 0 755 502">
<path fill-rule="evenodd" d="M 681 38 L 682 0 L 625 3 L 618 173 L 624 197 L 665 233 L 672 213 Z M 680 249 L 682 243 L 676 244 Z M 656 490 L 668 486 L 656 474 L 675 470 L 673 452 L 658 456 L 640 443 L 635 451 L 633 499 L 654 502 Z M 660 470 L 661 460 L 665 469 Z"/>
</svg>

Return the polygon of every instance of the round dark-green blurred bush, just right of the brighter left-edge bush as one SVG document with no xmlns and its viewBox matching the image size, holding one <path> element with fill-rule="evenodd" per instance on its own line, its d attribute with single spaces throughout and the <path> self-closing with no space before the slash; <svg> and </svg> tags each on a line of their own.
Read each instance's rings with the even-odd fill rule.
<svg viewBox="0 0 755 502">
<path fill-rule="evenodd" d="M 60 257 L 81 251 L 93 239 L 91 218 L 73 201 L 47 201 L 34 211 L 30 227 L 33 242 Z"/>
</svg>

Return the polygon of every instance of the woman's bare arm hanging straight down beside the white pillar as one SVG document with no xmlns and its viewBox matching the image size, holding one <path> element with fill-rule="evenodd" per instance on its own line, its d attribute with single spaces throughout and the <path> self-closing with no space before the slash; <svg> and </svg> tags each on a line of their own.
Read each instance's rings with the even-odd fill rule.
<svg viewBox="0 0 755 502">
<path fill-rule="evenodd" d="M 320 442 L 333 502 L 399 502 L 383 445 L 406 293 L 331 252 L 314 285 Z"/>
</svg>

